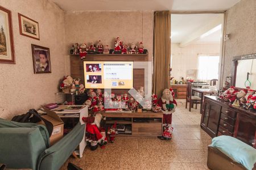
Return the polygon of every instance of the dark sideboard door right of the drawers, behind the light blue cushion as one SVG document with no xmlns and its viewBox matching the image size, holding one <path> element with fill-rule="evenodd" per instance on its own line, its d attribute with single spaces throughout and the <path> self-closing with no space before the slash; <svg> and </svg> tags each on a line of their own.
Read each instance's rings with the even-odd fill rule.
<svg viewBox="0 0 256 170">
<path fill-rule="evenodd" d="M 237 122 L 234 137 L 241 141 L 253 145 L 256 134 L 256 116 L 249 114 L 237 113 Z"/>
</svg>

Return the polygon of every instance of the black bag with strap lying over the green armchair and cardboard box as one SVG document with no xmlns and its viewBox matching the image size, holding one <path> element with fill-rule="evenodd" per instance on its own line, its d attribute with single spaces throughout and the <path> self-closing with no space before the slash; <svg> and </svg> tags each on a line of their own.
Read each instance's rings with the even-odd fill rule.
<svg viewBox="0 0 256 170">
<path fill-rule="evenodd" d="M 32 116 L 32 117 L 31 117 Z M 43 121 L 46 125 L 46 129 L 49 133 L 49 137 L 52 135 L 53 125 L 51 122 L 41 117 L 35 109 L 30 109 L 26 114 L 21 114 L 14 116 L 11 121 L 20 122 L 20 123 L 37 123 Z"/>
</svg>

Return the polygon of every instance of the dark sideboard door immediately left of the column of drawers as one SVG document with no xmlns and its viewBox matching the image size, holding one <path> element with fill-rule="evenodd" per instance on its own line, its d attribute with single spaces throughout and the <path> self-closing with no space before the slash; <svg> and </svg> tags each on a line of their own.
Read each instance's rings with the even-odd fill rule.
<svg viewBox="0 0 256 170">
<path fill-rule="evenodd" d="M 210 103 L 207 129 L 212 133 L 212 137 L 217 136 L 218 121 L 220 120 L 221 106 L 216 103 Z"/>
</svg>

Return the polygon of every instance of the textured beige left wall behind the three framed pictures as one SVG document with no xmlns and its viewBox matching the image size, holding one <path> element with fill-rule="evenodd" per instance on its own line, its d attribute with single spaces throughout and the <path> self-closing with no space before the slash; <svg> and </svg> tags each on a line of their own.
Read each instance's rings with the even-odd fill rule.
<svg viewBox="0 0 256 170">
<path fill-rule="evenodd" d="M 65 75 L 64 12 L 47 0 L 1 0 L 11 10 L 16 64 L 0 63 L 0 117 L 11 118 L 30 108 L 55 102 Z M 39 23 L 40 41 L 19 34 L 18 12 Z M 31 44 L 50 49 L 52 73 L 34 74 Z"/>
</svg>

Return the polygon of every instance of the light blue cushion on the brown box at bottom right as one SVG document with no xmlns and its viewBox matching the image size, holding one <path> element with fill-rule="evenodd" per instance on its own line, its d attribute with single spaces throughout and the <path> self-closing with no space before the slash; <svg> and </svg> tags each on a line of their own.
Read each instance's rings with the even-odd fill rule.
<svg viewBox="0 0 256 170">
<path fill-rule="evenodd" d="M 237 138 L 221 135 L 212 139 L 210 147 L 215 147 L 230 159 L 252 169 L 256 163 L 256 149 L 243 143 Z"/>
</svg>

